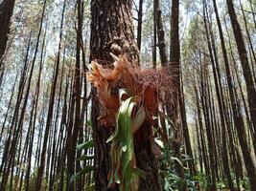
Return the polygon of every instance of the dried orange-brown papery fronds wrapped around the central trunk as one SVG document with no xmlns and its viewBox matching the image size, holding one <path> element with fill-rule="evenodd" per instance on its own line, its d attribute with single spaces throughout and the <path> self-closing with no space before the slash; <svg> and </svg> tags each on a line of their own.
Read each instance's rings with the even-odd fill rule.
<svg viewBox="0 0 256 191">
<path fill-rule="evenodd" d="M 113 65 L 113 69 L 104 69 L 93 61 L 92 70 L 87 74 L 87 79 L 97 88 L 101 103 L 100 124 L 115 123 L 115 114 L 120 106 L 118 91 L 121 88 L 141 97 L 148 117 L 152 117 L 159 104 L 170 104 L 174 100 L 175 83 L 170 68 L 139 69 L 122 55 Z"/>
</svg>

